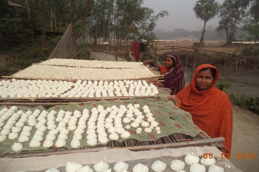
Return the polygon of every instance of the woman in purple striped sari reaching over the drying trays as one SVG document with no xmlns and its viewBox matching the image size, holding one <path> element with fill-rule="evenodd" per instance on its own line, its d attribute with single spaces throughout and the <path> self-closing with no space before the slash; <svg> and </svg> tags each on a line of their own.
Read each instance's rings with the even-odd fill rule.
<svg viewBox="0 0 259 172">
<path fill-rule="evenodd" d="M 181 61 L 178 55 L 168 54 L 165 57 L 165 66 L 157 64 L 153 60 L 145 60 L 143 64 L 149 64 L 158 68 L 158 70 L 161 71 L 160 74 L 164 75 L 164 78 L 160 80 L 164 80 L 165 82 L 162 83 L 157 79 L 151 78 L 147 80 L 148 83 L 171 89 L 171 95 L 177 94 L 182 89 L 186 74 L 182 70 Z"/>
</svg>

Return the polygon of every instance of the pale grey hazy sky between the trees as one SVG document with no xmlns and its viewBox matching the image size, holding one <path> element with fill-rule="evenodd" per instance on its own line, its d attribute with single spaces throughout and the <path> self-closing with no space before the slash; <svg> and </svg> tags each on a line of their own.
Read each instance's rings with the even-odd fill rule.
<svg viewBox="0 0 259 172">
<path fill-rule="evenodd" d="M 154 15 L 162 10 L 167 10 L 168 16 L 160 18 L 157 21 L 156 29 L 174 30 L 182 28 L 185 30 L 198 30 L 203 28 L 204 21 L 195 17 L 193 6 L 197 0 L 144 0 L 143 7 L 152 8 Z M 218 0 L 222 4 L 224 0 Z M 219 18 L 210 19 L 206 26 L 218 26 Z"/>
</svg>

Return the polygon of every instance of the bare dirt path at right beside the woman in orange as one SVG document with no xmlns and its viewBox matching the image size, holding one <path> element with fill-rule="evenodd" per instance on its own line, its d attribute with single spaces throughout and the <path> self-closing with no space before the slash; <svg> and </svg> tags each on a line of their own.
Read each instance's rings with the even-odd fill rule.
<svg viewBox="0 0 259 172">
<path fill-rule="evenodd" d="M 249 110 L 240 109 L 237 105 L 233 108 L 233 135 L 232 150 L 230 161 L 238 169 L 246 172 L 258 172 L 259 169 L 259 116 Z M 240 154 L 240 159 L 237 158 Z M 241 158 L 241 154 L 246 155 L 245 159 Z M 251 159 L 247 158 L 247 153 L 251 154 Z M 257 155 L 256 159 L 252 159 L 252 154 Z"/>
</svg>

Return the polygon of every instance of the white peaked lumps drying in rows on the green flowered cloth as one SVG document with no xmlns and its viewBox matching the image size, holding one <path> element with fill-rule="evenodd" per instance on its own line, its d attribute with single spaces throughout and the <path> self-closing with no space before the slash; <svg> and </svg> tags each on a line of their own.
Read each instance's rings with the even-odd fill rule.
<svg viewBox="0 0 259 172">
<path fill-rule="evenodd" d="M 139 104 L 135 104 L 134 106 L 132 104 L 129 104 L 127 108 L 124 105 L 121 105 L 120 108 L 117 108 L 117 106 L 113 105 L 112 107 L 107 107 L 106 110 L 104 110 L 104 107 L 99 105 L 98 108 L 93 108 L 91 110 L 92 114 L 89 118 L 89 110 L 84 109 L 82 114 L 80 111 L 75 110 L 73 116 L 72 112 L 65 112 L 64 110 L 60 110 L 57 114 L 56 111 L 52 110 L 51 112 L 46 111 L 40 111 L 35 110 L 34 112 L 28 110 L 27 112 L 23 113 L 22 110 L 19 110 L 18 112 L 14 113 L 15 110 L 17 110 L 16 106 L 11 107 L 9 110 L 7 108 L 4 108 L 0 111 L 1 114 L 1 123 L 0 127 L 4 125 L 4 121 L 8 119 L 7 123 L 3 127 L 3 130 L 1 130 L 0 135 L 0 142 L 4 141 L 7 138 L 10 140 L 13 140 L 18 137 L 18 132 L 22 130 L 22 127 L 24 126 L 24 123 L 27 122 L 28 126 L 24 126 L 23 130 L 20 134 L 20 137 L 18 138 L 19 143 L 15 143 L 13 145 L 13 150 L 18 151 L 22 146 L 22 142 L 26 142 L 29 140 L 29 137 L 31 135 L 32 127 L 35 126 L 37 128 L 37 131 L 35 132 L 29 146 L 30 147 L 39 147 L 41 144 L 40 142 L 43 140 L 44 132 L 48 129 L 50 130 L 48 135 L 45 138 L 45 141 L 43 143 L 44 147 L 50 147 L 52 146 L 53 140 L 56 138 L 56 134 L 59 133 L 58 140 L 55 143 L 56 147 L 62 147 L 66 145 L 66 139 L 67 134 L 69 131 L 74 131 L 73 140 L 71 142 L 71 147 L 76 148 L 80 146 L 80 141 L 82 139 L 82 134 L 84 133 L 84 129 L 87 127 L 87 144 L 93 146 L 97 144 L 97 135 L 98 133 L 98 142 L 102 144 L 106 144 L 108 142 L 107 133 L 105 132 L 106 129 L 108 130 L 108 133 L 111 133 L 109 135 L 109 138 L 111 140 L 118 140 L 119 135 L 121 135 L 121 138 L 128 138 L 130 137 L 130 133 L 128 131 L 125 131 L 122 125 L 122 117 L 126 113 L 126 117 L 123 118 L 123 123 L 129 123 L 132 122 L 130 125 L 125 126 L 126 129 L 129 129 L 131 126 L 134 128 L 137 128 L 136 132 L 137 134 L 140 134 L 142 131 L 142 128 L 138 128 L 140 124 L 142 127 L 146 127 L 144 129 L 145 132 L 151 132 L 152 129 L 155 128 L 158 134 L 160 134 L 160 127 L 158 127 L 158 122 L 155 121 L 155 118 L 153 118 L 153 114 L 150 113 L 150 110 L 148 106 L 143 106 L 144 113 L 146 113 L 147 121 L 143 121 L 144 116 L 142 115 L 142 112 L 138 110 L 138 107 L 140 107 Z M 105 119 L 106 115 L 110 112 L 108 118 Z M 98 113 L 100 113 L 98 115 Z M 55 114 L 57 114 L 57 118 L 55 118 Z M 136 119 L 133 117 L 135 114 Z M 21 118 L 18 120 L 18 118 L 21 116 Z M 36 119 L 37 118 L 37 119 Z M 47 120 L 45 119 L 47 118 Z M 79 122 L 77 124 L 77 118 L 79 118 Z M 86 121 L 89 118 L 89 121 Z M 18 122 L 16 123 L 16 120 Z M 97 125 L 95 122 L 97 121 Z M 58 126 L 55 124 L 58 123 Z M 149 124 L 151 122 L 151 125 Z M 47 127 L 45 126 L 47 124 Z M 68 127 L 66 128 L 66 124 L 68 124 Z M 77 126 L 76 126 L 77 124 Z M 114 124 L 114 125 L 113 125 Z M 14 127 L 15 125 L 15 127 Z M 150 125 L 150 126 L 149 126 Z M 96 130 L 97 129 L 97 130 Z M 12 132 L 11 132 L 12 130 Z"/>
</svg>

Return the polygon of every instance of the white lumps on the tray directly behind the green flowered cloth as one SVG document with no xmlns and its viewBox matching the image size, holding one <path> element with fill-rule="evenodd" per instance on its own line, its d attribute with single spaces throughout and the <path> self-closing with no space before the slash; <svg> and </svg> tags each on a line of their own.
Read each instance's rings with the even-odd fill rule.
<svg viewBox="0 0 259 172">
<path fill-rule="evenodd" d="M 74 88 L 72 88 L 74 87 Z M 127 92 L 129 89 L 129 92 Z M 153 96 L 157 87 L 146 81 L 67 81 L 10 80 L 0 81 L 0 97 L 119 97 Z"/>
</svg>

